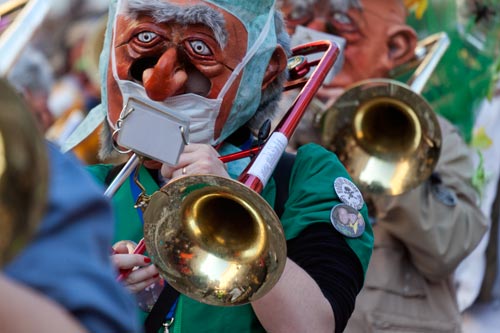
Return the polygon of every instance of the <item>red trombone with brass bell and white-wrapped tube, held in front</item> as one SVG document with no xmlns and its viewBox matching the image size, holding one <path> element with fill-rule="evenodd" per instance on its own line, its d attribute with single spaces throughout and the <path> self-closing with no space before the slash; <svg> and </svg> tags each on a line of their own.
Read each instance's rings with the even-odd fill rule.
<svg viewBox="0 0 500 333">
<path fill-rule="evenodd" d="M 312 52 L 324 53 L 320 60 L 307 63 L 303 55 Z M 298 46 L 293 53 L 289 72 L 302 73 L 306 67 L 315 67 L 314 71 L 309 79 L 297 75 L 285 87 L 302 89 L 263 146 L 221 158 L 228 162 L 253 157 L 238 180 L 186 176 L 139 203 L 145 206 L 144 239 L 135 253 L 145 248 L 173 288 L 202 303 L 234 306 L 254 301 L 278 282 L 284 270 L 286 240 L 281 222 L 259 193 L 340 50 L 330 41 L 318 41 Z M 295 64 L 301 64 L 300 70 Z M 140 165 L 138 159 L 132 155 L 108 187 L 108 195 Z"/>
</svg>

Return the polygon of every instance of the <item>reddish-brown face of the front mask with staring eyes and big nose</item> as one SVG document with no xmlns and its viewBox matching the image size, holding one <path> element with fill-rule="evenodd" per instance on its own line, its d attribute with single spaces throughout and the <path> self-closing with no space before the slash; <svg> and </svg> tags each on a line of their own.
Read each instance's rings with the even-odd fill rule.
<svg viewBox="0 0 500 333">
<path fill-rule="evenodd" d="M 216 33 L 206 22 L 194 17 L 193 23 L 185 24 L 175 20 L 158 23 L 144 13 L 138 13 L 136 18 L 118 15 L 115 40 L 111 45 L 116 55 L 118 78 L 143 85 L 148 97 L 155 101 L 185 93 L 217 98 L 246 53 L 244 25 L 228 12 L 201 0 L 164 2 L 178 6 L 175 10 L 182 15 L 187 15 L 186 7 L 194 5 L 209 6 L 221 13 L 225 44 L 217 41 Z M 116 124 L 123 104 L 113 77 L 111 58 L 107 75 L 108 112 L 111 122 Z M 240 79 L 241 74 L 225 95 L 215 125 L 215 137 L 219 136 L 229 115 Z"/>
</svg>

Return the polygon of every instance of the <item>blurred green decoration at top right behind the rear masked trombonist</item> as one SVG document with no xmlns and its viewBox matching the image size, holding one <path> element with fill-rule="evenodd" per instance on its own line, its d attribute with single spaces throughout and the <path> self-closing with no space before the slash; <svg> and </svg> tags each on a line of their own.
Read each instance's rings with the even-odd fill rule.
<svg viewBox="0 0 500 333">
<path fill-rule="evenodd" d="M 408 22 L 419 38 L 441 31 L 450 37 L 423 95 L 470 142 L 475 111 L 500 72 L 500 0 L 429 1 L 423 17 L 411 15 Z"/>
</svg>

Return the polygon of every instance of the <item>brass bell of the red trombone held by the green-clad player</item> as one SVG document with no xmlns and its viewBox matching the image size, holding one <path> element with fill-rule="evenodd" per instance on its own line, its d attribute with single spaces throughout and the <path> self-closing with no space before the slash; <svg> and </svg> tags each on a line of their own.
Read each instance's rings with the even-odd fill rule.
<svg viewBox="0 0 500 333">
<path fill-rule="evenodd" d="M 242 183 L 212 175 L 182 177 L 155 192 L 144 211 L 144 241 L 172 287 L 211 305 L 260 298 L 286 262 L 269 204 Z"/>
</svg>

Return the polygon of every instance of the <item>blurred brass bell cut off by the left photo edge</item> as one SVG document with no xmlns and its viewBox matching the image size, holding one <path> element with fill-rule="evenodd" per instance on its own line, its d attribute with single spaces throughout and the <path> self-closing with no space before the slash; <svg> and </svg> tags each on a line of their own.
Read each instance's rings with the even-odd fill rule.
<svg viewBox="0 0 500 333">
<path fill-rule="evenodd" d="M 0 267 L 29 243 L 42 218 L 48 179 L 45 149 L 27 105 L 0 80 Z"/>
</svg>

